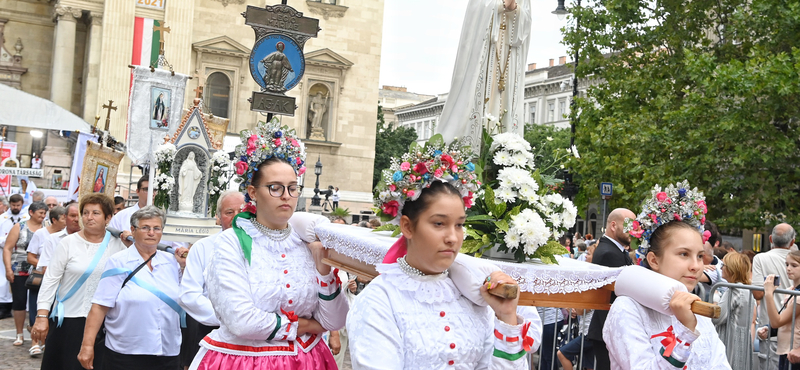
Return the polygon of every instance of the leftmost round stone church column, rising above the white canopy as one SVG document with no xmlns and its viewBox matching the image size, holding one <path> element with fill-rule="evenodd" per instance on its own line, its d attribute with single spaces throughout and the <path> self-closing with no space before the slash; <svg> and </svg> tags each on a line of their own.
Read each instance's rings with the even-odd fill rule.
<svg viewBox="0 0 800 370">
<path fill-rule="evenodd" d="M 55 6 L 56 34 L 53 50 L 53 68 L 50 75 L 50 100 L 60 107 L 72 108 L 72 83 L 75 80 L 75 27 L 80 9 Z"/>
</svg>

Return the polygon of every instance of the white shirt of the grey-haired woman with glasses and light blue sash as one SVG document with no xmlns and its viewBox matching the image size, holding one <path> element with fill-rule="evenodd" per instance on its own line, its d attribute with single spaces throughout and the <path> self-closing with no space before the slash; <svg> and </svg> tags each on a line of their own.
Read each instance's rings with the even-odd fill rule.
<svg viewBox="0 0 800 370">
<path fill-rule="evenodd" d="M 143 262 L 139 251 L 131 246 L 111 256 L 105 271 L 114 268 L 133 271 Z M 158 251 L 150 264 L 153 271 L 145 266 L 134 276 L 177 302 L 180 293 L 178 261 L 171 254 Z M 126 277 L 122 274 L 103 278 L 92 299 L 92 303 L 111 308 L 105 321 L 106 347 L 126 355 L 177 356 L 181 347 L 180 315 L 133 280 L 122 288 Z"/>
</svg>

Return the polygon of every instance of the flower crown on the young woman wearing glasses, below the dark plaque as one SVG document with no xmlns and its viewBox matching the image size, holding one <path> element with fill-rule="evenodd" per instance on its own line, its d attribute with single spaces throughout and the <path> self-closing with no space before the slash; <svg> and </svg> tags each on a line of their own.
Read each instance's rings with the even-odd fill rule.
<svg viewBox="0 0 800 370">
<path fill-rule="evenodd" d="M 258 171 L 258 165 L 272 157 L 278 157 L 292 166 L 297 176 L 306 172 L 306 150 L 296 138 L 295 131 L 281 126 L 277 119 L 266 123 L 258 122 L 255 132 L 242 130 L 242 144 L 236 146 L 236 182 L 239 190 L 245 192 Z"/>
</svg>

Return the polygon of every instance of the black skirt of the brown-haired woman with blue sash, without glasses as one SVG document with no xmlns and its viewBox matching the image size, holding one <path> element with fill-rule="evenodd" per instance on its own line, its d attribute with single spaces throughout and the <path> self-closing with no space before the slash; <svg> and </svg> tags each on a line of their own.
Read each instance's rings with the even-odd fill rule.
<svg viewBox="0 0 800 370">
<path fill-rule="evenodd" d="M 67 317 L 58 327 L 58 322 L 50 320 L 50 328 L 45 339 L 45 351 L 42 356 L 42 370 L 83 370 L 78 362 L 83 342 L 85 317 Z M 106 352 L 106 334 L 101 326 L 94 340 L 94 369 L 103 369 L 103 355 Z"/>
</svg>

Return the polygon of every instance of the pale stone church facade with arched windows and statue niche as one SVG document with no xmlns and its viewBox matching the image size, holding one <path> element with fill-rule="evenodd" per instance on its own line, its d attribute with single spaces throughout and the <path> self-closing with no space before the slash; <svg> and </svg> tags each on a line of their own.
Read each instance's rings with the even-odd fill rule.
<svg viewBox="0 0 800 370">
<path fill-rule="evenodd" d="M 260 88 L 250 74 L 253 29 L 241 15 L 248 5 L 274 5 L 253 0 L 0 0 L 6 48 L 19 39 L 21 67 L 27 68 L 15 87 L 49 99 L 95 123 L 113 100 L 110 132 L 124 141 L 131 84 L 129 65 L 149 65 L 158 55 L 158 39 L 175 72 L 192 76 L 184 107 L 197 86 L 204 87 L 203 111 L 230 120 L 223 149 L 232 151 L 238 132 L 266 117 L 250 111 L 247 99 Z M 287 95 L 296 98 L 294 117 L 282 122 L 306 138 L 309 171 L 304 196 L 313 195 L 314 163 L 323 165 L 320 188 L 339 187 L 340 205 L 357 212 L 371 207 L 379 71 L 382 0 L 289 0 L 306 17 L 319 18 L 319 37 L 304 49 L 306 68 Z M 153 32 L 153 27 L 169 32 Z M 9 44 L 10 42 L 10 44 Z M 322 133 L 311 136 L 312 125 Z M 11 138 L 11 137 L 9 137 Z M 69 142 L 50 133 L 43 162 L 56 163 Z M 21 148 L 30 140 L 17 132 Z M 29 146 L 28 146 L 29 147 Z M 23 149 L 24 152 L 24 149 Z M 70 159 L 71 162 L 71 159 Z M 120 167 L 126 195 L 129 164 Z M 133 171 L 134 182 L 140 175 Z M 135 190 L 135 189 L 134 189 Z"/>
</svg>

